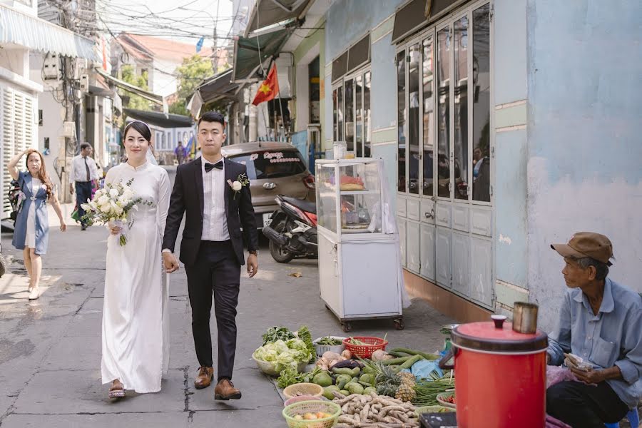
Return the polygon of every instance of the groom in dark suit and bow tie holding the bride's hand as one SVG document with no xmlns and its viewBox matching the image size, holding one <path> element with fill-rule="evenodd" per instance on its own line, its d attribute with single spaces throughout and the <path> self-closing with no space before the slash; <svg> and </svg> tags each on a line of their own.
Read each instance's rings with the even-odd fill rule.
<svg viewBox="0 0 642 428">
<path fill-rule="evenodd" d="M 236 305 L 243 258 L 243 235 L 248 243 L 248 274 L 258 271 L 256 230 L 249 184 L 243 185 L 245 165 L 223 158 L 225 119 L 208 112 L 198 121 L 198 143 L 203 154 L 178 165 L 163 238 L 163 263 L 167 272 L 178 270 L 174 245 L 185 214 L 180 261 L 188 277 L 192 306 L 192 334 L 200 364 L 194 384 L 209 387 L 214 377 L 210 312 L 218 327 L 218 383 L 215 399 L 239 399 L 232 383 L 236 351 Z M 246 177 L 246 175 L 245 175 Z"/>
</svg>

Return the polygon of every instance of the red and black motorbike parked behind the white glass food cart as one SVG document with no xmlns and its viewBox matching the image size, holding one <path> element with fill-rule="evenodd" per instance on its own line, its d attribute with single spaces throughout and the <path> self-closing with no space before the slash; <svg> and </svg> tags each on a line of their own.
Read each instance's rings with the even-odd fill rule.
<svg viewBox="0 0 642 428">
<path fill-rule="evenodd" d="M 317 206 L 307 200 L 277 195 L 279 205 L 263 235 L 270 240 L 270 254 L 278 263 L 299 256 L 317 257 Z"/>
</svg>

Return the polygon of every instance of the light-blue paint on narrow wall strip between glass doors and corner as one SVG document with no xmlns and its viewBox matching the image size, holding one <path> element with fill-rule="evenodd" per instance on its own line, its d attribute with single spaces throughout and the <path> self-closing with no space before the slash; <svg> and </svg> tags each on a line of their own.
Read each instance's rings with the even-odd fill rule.
<svg viewBox="0 0 642 428">
<path fill-rule="evenodd" d="M 493 24 L 494 104 L 523 101 L 527 79 L 526 0 L 495 0 Z M 525 125 L 524 121 L 516 124 Z M 494 133 L 494 138 L 495 277 L 528 288 L 526 130 Z"/>
</svg>

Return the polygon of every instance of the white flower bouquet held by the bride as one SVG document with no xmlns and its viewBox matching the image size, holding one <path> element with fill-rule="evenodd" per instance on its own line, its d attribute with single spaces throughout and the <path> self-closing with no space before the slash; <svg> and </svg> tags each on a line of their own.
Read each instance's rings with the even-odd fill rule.
<svg viewBox="0 0 642 428">
<path fill-rule="evenodd" d="M 89 225 L 94 223 L 106 225 L 113 222 L 114 225 L 122 228 L 129 212 L 138 210 L 138 204 L 143 203 L 143 198 L 136 197 L 136 193 L 132 190 L 132 182 L 133 178 L 126 183 L 120 180 L 118 183 L 108 183 L 104 188 L 96 190 L 92 200 L 81 204 L 86 211 L 83 220 L 86 220 Z M 128 227 L 131 228 L 132 224 L 133 220 Z M 126 235 L 121 233 L 118 242 L 121 246 L 126 245 Z"/>
</svg>

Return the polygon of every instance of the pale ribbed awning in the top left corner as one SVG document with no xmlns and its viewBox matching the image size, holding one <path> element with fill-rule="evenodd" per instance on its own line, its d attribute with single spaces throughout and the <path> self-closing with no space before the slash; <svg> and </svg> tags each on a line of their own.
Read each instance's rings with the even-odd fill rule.
<svg viewBox="0 0 642 428">
<path fill-rule="evenodd" d="M 91 39 L 44 19 L 0 5 L 0 44 L 11 43 L 43 53 L 101 61 Z"/>
</svg>

